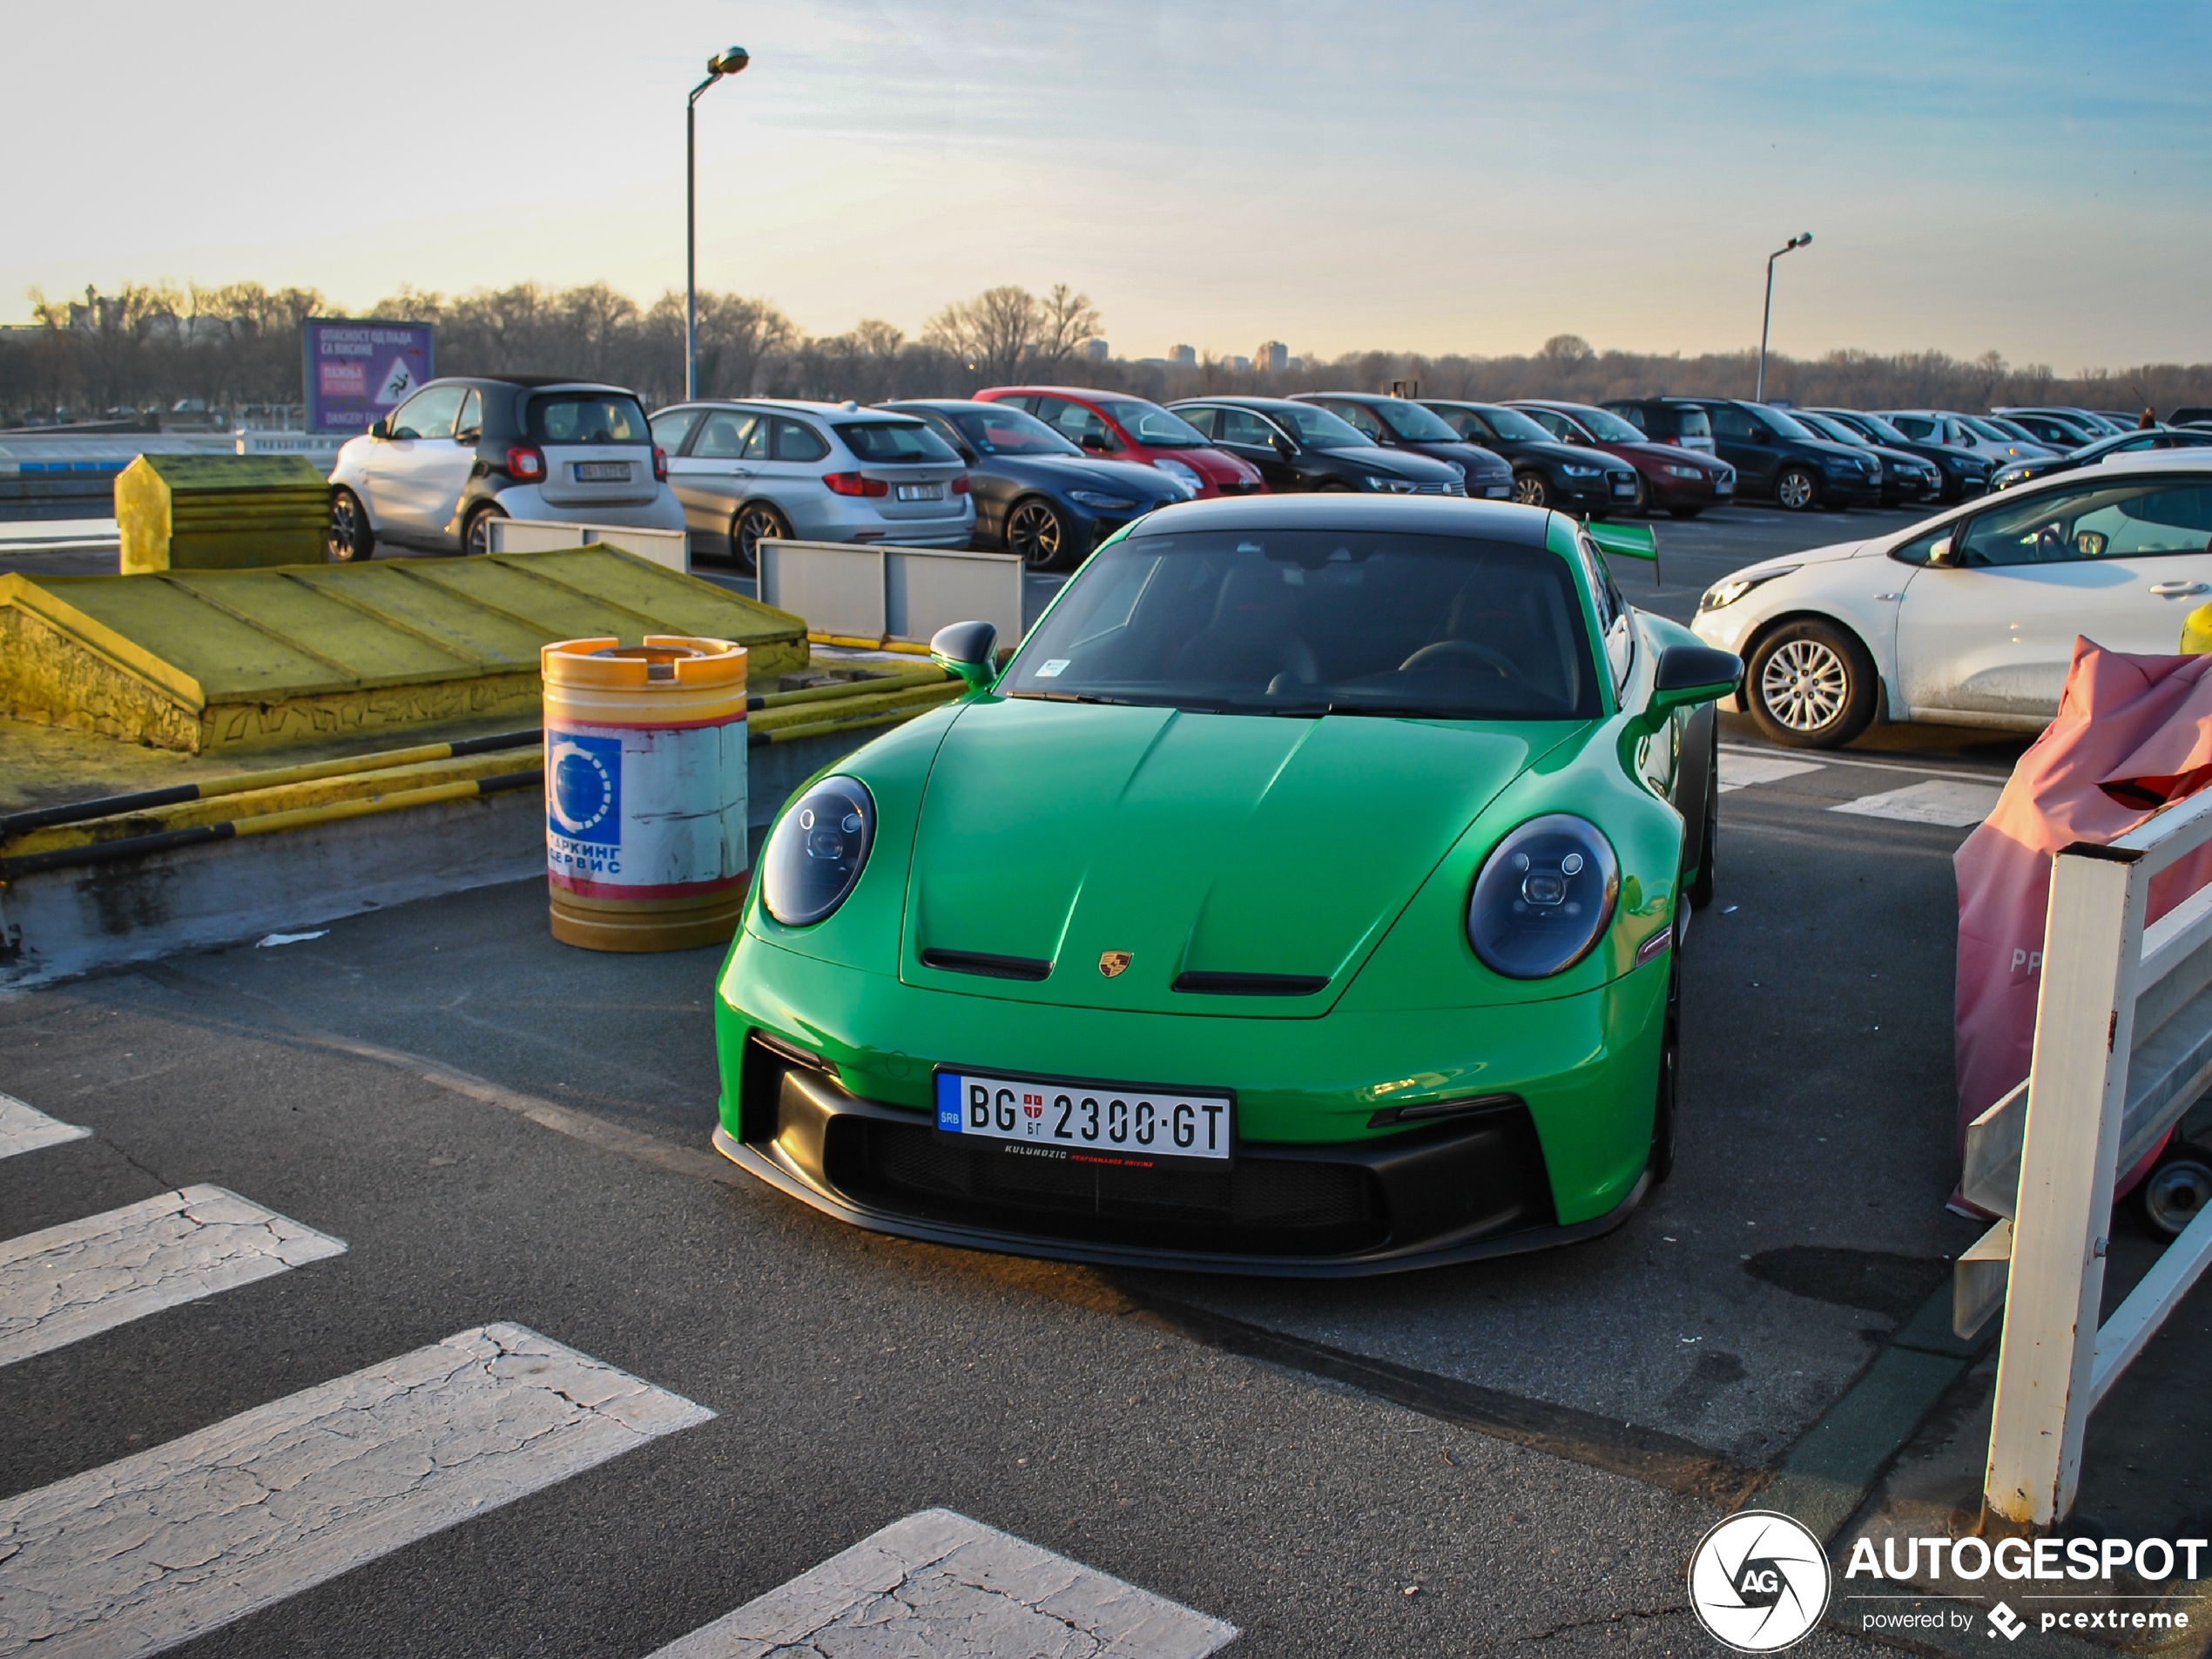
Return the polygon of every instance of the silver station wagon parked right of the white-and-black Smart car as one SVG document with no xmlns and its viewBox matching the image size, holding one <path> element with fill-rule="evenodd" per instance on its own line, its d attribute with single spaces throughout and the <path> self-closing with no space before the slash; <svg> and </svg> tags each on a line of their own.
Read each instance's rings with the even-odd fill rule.
<svg viewBox="0 0 2212 1659">
<path fill-rule="evenodd" d="M 679 403 L 653 416 L 692 557 L 754 571 L 765 538 L 967 546 L 960 456 L 914 416 L 856 403 Z"/>
</svg>

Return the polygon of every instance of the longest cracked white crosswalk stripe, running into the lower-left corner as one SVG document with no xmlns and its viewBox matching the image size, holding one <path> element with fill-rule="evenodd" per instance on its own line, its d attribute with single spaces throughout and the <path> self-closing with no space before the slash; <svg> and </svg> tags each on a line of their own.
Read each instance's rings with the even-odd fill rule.
<svg viewBox="0 0 2212 1659">
<path fill-rule="evenodd" d="M 137 1659 L 714 1413 L 480 1325 L 0 1500 L 0 1655 Z"/>
</svg>

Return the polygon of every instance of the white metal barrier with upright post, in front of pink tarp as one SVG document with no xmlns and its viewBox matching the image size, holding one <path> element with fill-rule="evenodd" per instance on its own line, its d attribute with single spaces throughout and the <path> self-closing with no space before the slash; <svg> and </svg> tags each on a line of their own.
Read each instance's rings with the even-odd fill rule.
<svg viewBox="0 0 2212 1659">
<path fill-rule="evenodd" d="M 2212 1261 L 2212 1208 L 2099 1329 L 2112 1181 L 2212 1084 L 2212 885 L 2143 927 L 2150 878 L 2212 841 L 2212 790 L 2051 860 L 2028 1079 L 1966 1130 L 1969 1199 L 2004 1221 L 1958 1261 L 1953 1325 L 2004 1303 L 1982 1500 L 2017 1526 L 2073 1506 L 2081 1429 Z"/>
</svg>

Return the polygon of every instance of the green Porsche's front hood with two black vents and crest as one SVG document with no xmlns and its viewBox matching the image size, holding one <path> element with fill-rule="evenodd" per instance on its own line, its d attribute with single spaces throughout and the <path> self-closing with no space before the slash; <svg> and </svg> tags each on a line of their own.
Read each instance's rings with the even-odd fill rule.
<svg viewBox="0 0 2212 1659">
<path fill-rule="evenodd" d="M 1579 730 L 969 703 L 916 821 L 900 978 L 1020 1002 L 1321 1015 L 1475 814 Z M 925 953 L 1051 971 L 995 978 Z M 1102 971 L 1119 953 L 1126 967 Z M 1208 973 L 1325 984 L 1170 989 Z"/>
</svg>

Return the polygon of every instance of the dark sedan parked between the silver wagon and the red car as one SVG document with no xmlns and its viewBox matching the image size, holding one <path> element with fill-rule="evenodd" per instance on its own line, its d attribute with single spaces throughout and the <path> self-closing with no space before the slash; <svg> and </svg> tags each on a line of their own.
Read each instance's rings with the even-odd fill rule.
<svg viewBox="0 0 2212 1659">
<path fill-rule="evenodd" d="M 920 416 L 960 451 L 975 495 L 975 544 L 1020 553 L 1031 571 L 1082 564 L 1133 518 L 1190 500 L 1190 489 L 1157 467 L 1086 456 L 1004 403 L 905 398 L 883 407 Z"/>
</svg>

